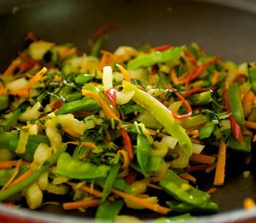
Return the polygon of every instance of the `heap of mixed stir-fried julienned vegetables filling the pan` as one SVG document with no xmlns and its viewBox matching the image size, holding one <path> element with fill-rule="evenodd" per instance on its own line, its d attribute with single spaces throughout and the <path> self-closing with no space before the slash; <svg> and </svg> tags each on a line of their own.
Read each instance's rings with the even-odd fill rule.
<svg viewBox="0 0 256 223">
<path fill-rule="evenodd" d="M 210 192 L 224 184 L 226 153 L 250 154 L 255 141 L 255 63 L 196 44 L 109 52 L 98 37 L 87 55 L 29 39 L 0 75 L 0 201 L 36 209 L 54 193 L 69 199 L 64 210 L 96 207 L 107 221 L 124 207 L 219 210 Z M 209 191 L 196 171 L 215 172 Z"/>
</svg>

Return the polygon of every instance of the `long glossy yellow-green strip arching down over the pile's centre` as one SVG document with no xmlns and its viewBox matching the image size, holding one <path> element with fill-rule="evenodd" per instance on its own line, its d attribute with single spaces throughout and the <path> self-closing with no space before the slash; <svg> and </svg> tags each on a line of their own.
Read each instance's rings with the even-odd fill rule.
<svg viewBox="0 0 256 223">
<path fill-rule="evenodd" d="M 150 112 L 155 117 L 155 120 L 165 127 L 169 135 L 179 140 L 179 157 L 170 163 L 170 167 L 183 168 L 187 166 L 193 152 L 192 144 L 185 130 L 173 118 L 168 108 L 146 92 L 138 89 L 135 85 L 124 81 L 123 87 L 127 91 L 134 91 L 132 99 L 146 111 Z"/>
</svg>

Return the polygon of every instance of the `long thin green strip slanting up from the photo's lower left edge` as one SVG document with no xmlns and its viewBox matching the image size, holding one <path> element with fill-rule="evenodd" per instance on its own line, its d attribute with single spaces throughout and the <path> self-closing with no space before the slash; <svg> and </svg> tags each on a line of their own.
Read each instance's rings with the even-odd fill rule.
<svg viewBox="0 0 256 223">
<path fill-rule="evenodd" d="M 52 156 L 50 156 L 44 164 L 42 164 L 39 168 L 34 170 L 34 172 L 29 176 L 20 181 L 19 183 L 13 185 L 6 190 L 0 190 L 0 202 L 6 200 L 8 197 L 19 193 L 21 190 L 27 188 L 31 184 L 33 184 L 43 173 L 45 173 L 53 164 L 55 164 L 61 154 L 61 152 L 66 150 L 66 144 L 63 144 L 61 148 L 55 152 Z"/>
</svg>

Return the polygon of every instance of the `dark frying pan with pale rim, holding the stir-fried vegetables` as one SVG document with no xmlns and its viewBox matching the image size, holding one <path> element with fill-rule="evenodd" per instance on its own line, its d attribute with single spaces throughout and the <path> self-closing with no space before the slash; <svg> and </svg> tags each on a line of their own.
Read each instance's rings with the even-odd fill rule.
<svg viewBox="0 0 256 223">
<path fill-rule="evenodd" d="M 25 33 L 31 31 L 47 41 L 74 43 L 88 51 L 88 39 L 106 23 L 119 25 L 108 33 L 104 45 L 108 50 L 120 45 L 178 46 L 195 42 L 209 55 L 224 60 L 256 59 L 255 0 L 0 0 L 0 72 L 24 48 Z M 196 222 L 256 222 L 255 210 L 242 210 L 245 198 L 256 201 L 256 161 L 245 164 L 244 158 L 241 154 L 228 158 L 225 186 L 212 195 L 221 213 L 201 216 Z M 249 177 L 244 177 L 244 171 L 250 172 Z M 209 189 L 212 178 L 201 174 L 199 184 Z M 39 212 L 13 210 L 0 203 L 0 222 L 85 222 L 91 215 L 64 213 L 61 206 L 53 205 Z M 155 217 L 146 211 L 135 215 Z"/>
</svg>

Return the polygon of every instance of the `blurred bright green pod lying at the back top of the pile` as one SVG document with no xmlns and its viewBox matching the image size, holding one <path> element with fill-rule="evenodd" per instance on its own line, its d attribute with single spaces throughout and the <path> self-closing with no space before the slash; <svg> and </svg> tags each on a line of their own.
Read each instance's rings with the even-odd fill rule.
<svg viewBox="0 0 256 223">
<path fill-rule="evenodd" d="M 148 67 L 156 63 L 168 62 L 179 59 L 182 55 L 182 46 L 172 47 L 165 51 L 141 53 L 137 58 L 128 61 L 128 69 L 134 70 L 140 67 Z"/>
</svg>

